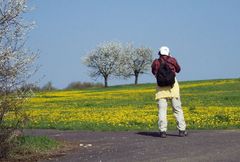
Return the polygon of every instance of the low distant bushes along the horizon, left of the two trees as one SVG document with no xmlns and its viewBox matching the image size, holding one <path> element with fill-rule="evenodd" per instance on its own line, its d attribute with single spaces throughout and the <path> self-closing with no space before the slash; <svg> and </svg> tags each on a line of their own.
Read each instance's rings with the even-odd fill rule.
<svg viewBox="0 0 240 162">
<path fill-rule="evenodd" d="M 72 82 L 64 90 L 79 90 L 79 89 L 87 89 L 92 87 L 104 87 L 102 83 L 92 83 L 92 82 Z M 40 87 L 36 84 L 26 84 L 21 87 L 21 90 L 32 90 L 32 91 L 54 91 L 58 90 L 52 82 L 46 83 L 44 86 Z"/>
</svg>

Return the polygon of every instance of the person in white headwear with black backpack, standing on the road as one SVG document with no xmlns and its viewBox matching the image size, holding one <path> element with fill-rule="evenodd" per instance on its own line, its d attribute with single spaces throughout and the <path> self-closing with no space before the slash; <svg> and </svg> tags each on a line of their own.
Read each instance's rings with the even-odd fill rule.
<svg viewBox="0 0 240 162">
<path fill-rule="evenodd" d="M 172 103 L 172 109 L 177 121 L 179 136 L 187 136 L 186 123 L 180 101 L 180 90 L 178 81 L 175 77 L 181 68 L 177 60 L 170 55 L 170 50 L 162 46 L 158 52 L 159 59 L 152 63 L 152 73 L 157 79 L 157 93 L 155 99 L 158 103 L 158 126 L 160 137 L 166 138 L 167 134 L 167 101 Z"/>
</svg>

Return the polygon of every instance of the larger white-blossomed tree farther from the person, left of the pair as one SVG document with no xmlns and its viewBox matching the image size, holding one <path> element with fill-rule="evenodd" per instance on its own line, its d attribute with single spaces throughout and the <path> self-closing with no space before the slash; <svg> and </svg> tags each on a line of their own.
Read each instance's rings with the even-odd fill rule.
<svg viewBox="0 0 240 162">
<path fill-rule="evenodd" d="M 116 75 L 122 45 L 118 42 L 106 42 L 100 44 L 88 54 L 84 63 L 91 68 L 90 76 L 104 78 L 105 87 L 108 86 L 108 79 Z"/>
</svg>

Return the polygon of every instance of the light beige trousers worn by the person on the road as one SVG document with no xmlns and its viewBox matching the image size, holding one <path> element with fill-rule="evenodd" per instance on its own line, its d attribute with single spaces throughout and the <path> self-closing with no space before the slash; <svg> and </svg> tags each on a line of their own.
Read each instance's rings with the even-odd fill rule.
<svg viewBox="0 0 240 162">
<path fill-rule="evenodd" d="M 180 98 L 169 99 L 172 102 L 173 114 L 177 121 L 178 130 L 185 131 L 186 123 L 184 120 L 183 110 L 181 106 Z M 167 99 L 158 100 L 158 127 L 160 132 L 167 131 Z"/>
</svg>

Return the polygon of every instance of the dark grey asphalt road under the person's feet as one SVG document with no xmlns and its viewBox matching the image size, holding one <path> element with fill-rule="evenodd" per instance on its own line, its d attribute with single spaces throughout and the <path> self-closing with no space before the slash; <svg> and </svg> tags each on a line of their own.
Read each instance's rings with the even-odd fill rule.
<svg viewBox="0 0 240 162">
<path fill-rule="evenodd" d="M 28 135 L 47 135 L 77 147 L 62 156 L 41 162 L 239 162 L 240 130 L 194 130 L 187 137 L 169 131 L 84 132 L 25 130 Z"/>
</svg>

